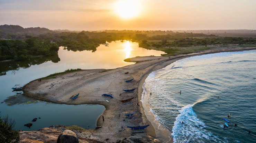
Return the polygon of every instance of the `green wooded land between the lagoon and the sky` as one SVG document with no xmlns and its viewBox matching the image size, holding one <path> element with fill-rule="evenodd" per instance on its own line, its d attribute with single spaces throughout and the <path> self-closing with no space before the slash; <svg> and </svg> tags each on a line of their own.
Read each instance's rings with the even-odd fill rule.
<svg viewBox="0 0 256 143">
<path fill-rule="evenodd" d="M 0 61 L 29 61 L 34 56 L 57 56 L 59 46 L 72 51 L 95 52 L 100 44 L 116 40 L 138 42 L 140 47 L 166 52 L 163 56 L 210 50 L 214 46 L 227 44 L 256 44 L 255 38 L 220 37 L 210 33 L 133 30 L 62 32 L 46 28 L 24 29 L 18 25 L 0 25 L 0 39 Z"/>
</svg>

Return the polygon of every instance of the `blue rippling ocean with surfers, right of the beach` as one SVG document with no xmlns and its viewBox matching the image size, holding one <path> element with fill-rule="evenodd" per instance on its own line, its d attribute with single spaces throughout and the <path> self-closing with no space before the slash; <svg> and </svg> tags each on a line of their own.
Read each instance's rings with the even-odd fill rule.
<svg viewBox="0 0 256 143">
<path fill-rule="evenodd" d="M 184 58 L 151 73 L 143 88 L 175 143 L 256 142 L 256 51 Z"/>
</svg>

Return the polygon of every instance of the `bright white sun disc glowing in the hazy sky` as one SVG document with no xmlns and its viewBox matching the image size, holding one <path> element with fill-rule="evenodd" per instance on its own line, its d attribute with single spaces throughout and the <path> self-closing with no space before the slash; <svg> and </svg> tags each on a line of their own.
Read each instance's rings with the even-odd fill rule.
<svg viewBox="0 0 256 143">
<path fill-rule="evenodd" d="M 139 0 L 120 0 L 114 3 L 115 13 L 123 19 L 137 17 L 141 10 Z"/>
</svg>

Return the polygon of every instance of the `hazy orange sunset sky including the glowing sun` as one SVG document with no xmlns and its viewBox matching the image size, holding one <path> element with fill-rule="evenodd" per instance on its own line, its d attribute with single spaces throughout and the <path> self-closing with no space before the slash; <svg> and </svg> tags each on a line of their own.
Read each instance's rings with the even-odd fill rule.
<svg viewBox="0 0 256 143">
<path fill-rule="evenodd" d="M 51 30 L 256 29 L 256 0 L 0 0 L 0 25 Z"/>
</svg>

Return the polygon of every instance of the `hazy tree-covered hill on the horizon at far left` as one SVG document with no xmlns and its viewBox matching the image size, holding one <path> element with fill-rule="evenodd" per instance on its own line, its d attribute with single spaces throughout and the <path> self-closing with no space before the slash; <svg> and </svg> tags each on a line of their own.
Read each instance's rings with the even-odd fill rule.
<svg viewBox="0 0 256 143">
<path fill-rule="evenodd" d="M 19 25 L 0 25 L 1 39 L 25 39 L 26 36 L 37 36 L 40 34 L 52 33 L 47 28 L 23 28 Z"/>
</svg>

